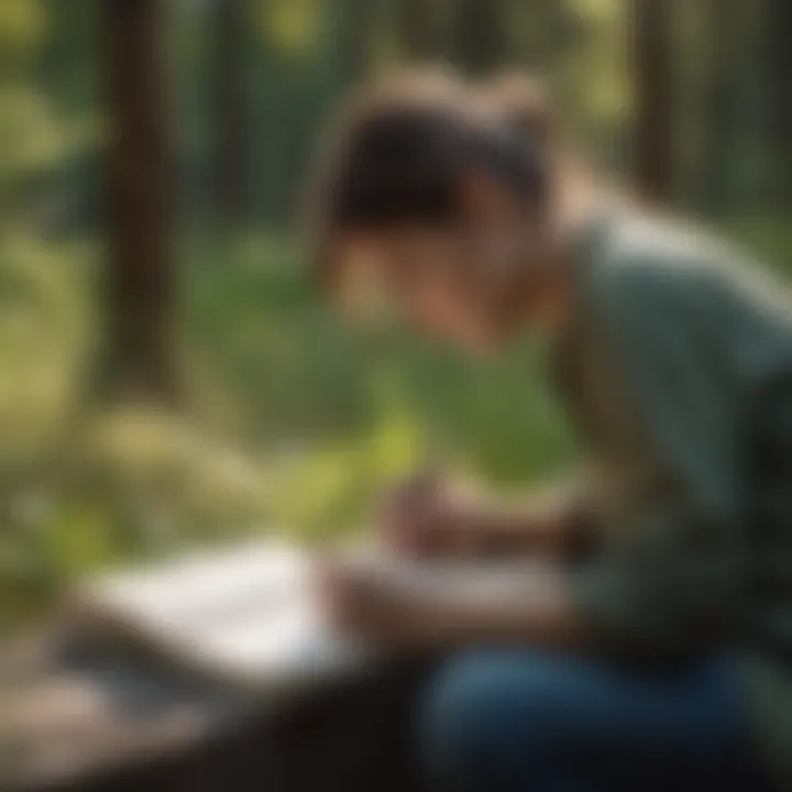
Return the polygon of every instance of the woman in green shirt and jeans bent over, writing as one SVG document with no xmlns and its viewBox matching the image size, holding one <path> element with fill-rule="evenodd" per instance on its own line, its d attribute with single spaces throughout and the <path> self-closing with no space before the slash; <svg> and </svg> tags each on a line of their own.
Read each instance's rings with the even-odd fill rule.
<svg viewBox="0 0 792 792">
<path fill-rule="evenodd" d="M 495 537 L 522 573 L 422 597 L 338 562 L 330 610 L 448 658 L 417 717 L 433 788 L 792 789 L 784 289 L 609 195 L 563 139 L 528 78 L 403 75 L 342 114 L 311 207 L 328 294 L 474 354 L 547 334 L 583 459 L 574 494 L 539 513 L 485 513 L 436 482 L 388 510 L 400 552 Z"/>
</svg>

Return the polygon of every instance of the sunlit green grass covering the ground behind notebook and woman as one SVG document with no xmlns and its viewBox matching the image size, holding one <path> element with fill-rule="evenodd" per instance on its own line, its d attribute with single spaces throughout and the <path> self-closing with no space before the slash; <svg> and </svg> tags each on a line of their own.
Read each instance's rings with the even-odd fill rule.
<svg viewBox="0 0 792 792">
<path fill-rule="evenodd" d="M 784 223 L 729 230 L 792 263 Z M 89 244 L 0 241 L 0 624 L 130 558 L 272 526 L 338 536 L 427 461 L 515 487 L 573 455 L 536 344 L 475 362 L 348 324 L 267 235 L 182 245 L 184 416 L 80 413 L 97 264 Z"/>
</svg>

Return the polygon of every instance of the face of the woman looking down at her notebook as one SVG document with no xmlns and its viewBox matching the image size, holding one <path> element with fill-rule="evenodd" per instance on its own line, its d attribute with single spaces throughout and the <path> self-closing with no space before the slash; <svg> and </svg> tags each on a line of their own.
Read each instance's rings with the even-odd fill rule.
<svg viewBox="0 0 792 792">
<path fill-rule="evenodd" d="M 477 202 L 476 202 L 477 201 Z M 465 207 L 446 227 L 402 226 L 350 234 L 342 256 L 355 301 L 395 311 L 417 330 L 468 350 L 493 350 L 515 289 L 546 254 L 543 229 L 506 200 Z"/>
</svg>

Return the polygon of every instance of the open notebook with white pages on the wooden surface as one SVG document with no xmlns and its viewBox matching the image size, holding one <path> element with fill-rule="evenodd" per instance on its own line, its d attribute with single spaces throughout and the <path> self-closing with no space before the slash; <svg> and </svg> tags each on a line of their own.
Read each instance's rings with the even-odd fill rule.
<svg viewBox="0 0 792 792">
<path fill-rule="evenodd" d="M 125 644 L 227 684 L 284 692 L 338 678 L 366 657 L 322 622 L 309 574 L 298 549 L 258 541 L 91 581 L 72 613 L 92 642 Z"/>
</svg>

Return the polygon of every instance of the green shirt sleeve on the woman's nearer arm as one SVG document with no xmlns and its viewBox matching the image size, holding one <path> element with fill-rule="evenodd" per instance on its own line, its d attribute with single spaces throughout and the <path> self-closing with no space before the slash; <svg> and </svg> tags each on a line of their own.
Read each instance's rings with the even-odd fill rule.
<svg viewBox="0 0 792 792">
<path fill-rule="evenodd" d="M 573 579 L 584 629 L 609 651 L 684 656 L 726 640 L 740 619 L 737 409 L 725 342 L 711 332 L 717 289 L 706 279 L 647 261 L 591 285 L 593 336 L 652 447 L 645 476 L 666 483 L 630 503 L 624 525 L 606 526 L 602 553 Z"/>
</svg>

